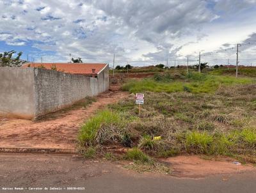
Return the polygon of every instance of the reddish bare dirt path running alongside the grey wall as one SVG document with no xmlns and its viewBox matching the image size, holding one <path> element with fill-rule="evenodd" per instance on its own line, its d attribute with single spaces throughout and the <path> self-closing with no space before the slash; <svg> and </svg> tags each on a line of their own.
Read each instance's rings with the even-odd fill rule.
<svg viewBox="0 0 256 193">
<path fill-rule="evenodd" d="M 66 112 L 61 118 L 46 121 L 0 119 L 0 148 L 75 148 L 80 125 L 108 104 L 127 96 L 122 91 L 109 91 L 97 96 L 86 109 Z"/>
</svg>

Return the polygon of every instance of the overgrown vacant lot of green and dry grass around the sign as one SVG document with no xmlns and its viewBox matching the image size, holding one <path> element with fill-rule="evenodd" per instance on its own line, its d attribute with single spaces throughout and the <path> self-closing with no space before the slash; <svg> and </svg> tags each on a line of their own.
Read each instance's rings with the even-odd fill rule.
<svg viewBox="0 0 256 193">
<path fill-rule="evenodd" d="M 88 120 L 79 132 L 81 146 L 132 148 L 124 158 L 147 163 L 154 162 L 149 156 L 182 153 L 256 162 L 255 79 L 164 72 L 122 88 L 129 98 Z M 134 97 L 141 92 L 145 104 L 138 114 Z"/>
</svg>

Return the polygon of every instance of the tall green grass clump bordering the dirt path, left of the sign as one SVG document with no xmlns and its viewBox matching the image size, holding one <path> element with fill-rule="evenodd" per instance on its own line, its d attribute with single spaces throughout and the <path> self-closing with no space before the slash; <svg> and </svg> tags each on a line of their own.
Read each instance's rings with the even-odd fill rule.
<svg viewBox="0 0 256 193">
<path fill-rule="evenodd" d="M 97 112 L 79 130 L 79 142 L 81 145 L 95 144 L 96 134 L 101 125 L 118 124 L 120 121 L 120 115 L 116 112 L 109 111 L 108 109 Z"/>
</svg>

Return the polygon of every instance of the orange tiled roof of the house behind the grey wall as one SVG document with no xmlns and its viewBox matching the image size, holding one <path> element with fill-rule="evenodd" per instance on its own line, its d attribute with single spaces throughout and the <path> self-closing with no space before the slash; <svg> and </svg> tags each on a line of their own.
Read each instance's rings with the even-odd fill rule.
<svg viewBox="0 0 256 193">
<path fill-rule="evenodd" d="M 99 73 L 106 65 L 104 63 L 27 63 L 22 67 L 38 68 L 44 66 L 51 70 L 52 66 L 56 66 L 58 71 L 65 73 L 92 75 L 92 69 L 95 69 L 95 73 Z"/>
</svg>

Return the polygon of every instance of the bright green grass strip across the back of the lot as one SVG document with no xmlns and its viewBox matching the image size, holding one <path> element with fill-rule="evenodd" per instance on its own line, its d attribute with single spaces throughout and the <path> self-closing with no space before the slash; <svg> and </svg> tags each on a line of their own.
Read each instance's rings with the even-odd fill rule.
<svg viewBox="0 0 256 193">
<path fill-rule="evenodd" d="M 175 79 L 175 81 L 172 81 Z M 249 84 L 253 80 L 250 78 L 239 78 L 205 75 L 204 73 L 189 73 L 178 77 L 170 74 L 154 76 L 154 79 L 143 79 L 141 81 L 131 80 L 124 84 L 122 89 L 131 93 L 152 91 L 155 93 L 173 93 L 187 91 L 191 93 L 214 93 L 220 86 L 230 86 L 234 84 Z"/>
</svg>

